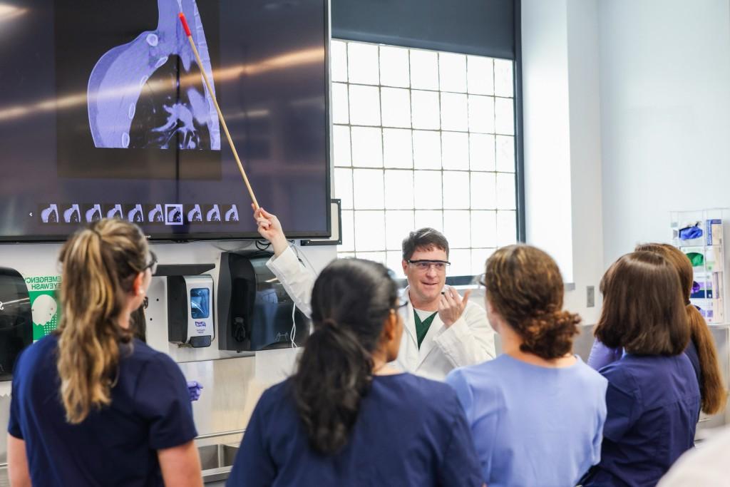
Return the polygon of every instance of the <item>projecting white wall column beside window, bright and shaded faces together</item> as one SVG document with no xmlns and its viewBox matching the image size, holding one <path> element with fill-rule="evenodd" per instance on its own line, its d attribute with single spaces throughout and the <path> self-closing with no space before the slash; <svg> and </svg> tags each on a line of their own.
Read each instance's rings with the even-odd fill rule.
<svg viewBox="0 0 730 487">
<path fill-rule="evenodd" d="M 597 0 L 522 2 L 527 242 L 556 258 L 585 324 L 603 272 L 598 22 Z"/>
</svg>

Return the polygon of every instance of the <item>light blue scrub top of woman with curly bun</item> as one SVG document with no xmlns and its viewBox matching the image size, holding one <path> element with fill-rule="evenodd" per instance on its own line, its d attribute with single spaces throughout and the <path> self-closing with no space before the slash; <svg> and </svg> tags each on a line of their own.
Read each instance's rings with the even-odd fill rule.
<svg viewBox="0 0 730 487">
<path fill-rule="evenodd" d="M 599 462 L 607 382 L 576 358 L 553 368 L 501 355 L 447 375 L 489 487 L 575 486 Z"/>
</svg>

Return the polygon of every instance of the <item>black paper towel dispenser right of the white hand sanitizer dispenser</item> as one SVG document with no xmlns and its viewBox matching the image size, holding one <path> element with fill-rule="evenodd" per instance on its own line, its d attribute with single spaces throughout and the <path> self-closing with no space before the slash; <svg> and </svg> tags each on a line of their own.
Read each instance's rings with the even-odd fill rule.
<svg viewBox="0 0 730 487">
<path fill-rule="evenodd" d="M 272 253 L 223 252 L 218 272 L 218 348 L 264 350 L 302 345 L 309 320 L 266 267 Z M 296 323 L 296 327 L 292 326 Z"/>
</svg>

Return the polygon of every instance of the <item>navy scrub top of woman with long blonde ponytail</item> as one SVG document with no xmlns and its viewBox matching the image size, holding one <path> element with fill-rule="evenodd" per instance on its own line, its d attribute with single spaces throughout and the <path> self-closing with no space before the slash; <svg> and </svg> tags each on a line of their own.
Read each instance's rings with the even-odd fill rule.
<svg viewBox="0 0 730 487">
<path fill-rule="evenodd" d="M 34 487 L 162 486 L 157 450 L 196 437 L 185 377 L 172 358 L 123 345 L 112 404 L 66 423 L 56 370 L 58 337 L 27 348 L 15 368 L 9 434 L 25 440 Z"/>
</svg>

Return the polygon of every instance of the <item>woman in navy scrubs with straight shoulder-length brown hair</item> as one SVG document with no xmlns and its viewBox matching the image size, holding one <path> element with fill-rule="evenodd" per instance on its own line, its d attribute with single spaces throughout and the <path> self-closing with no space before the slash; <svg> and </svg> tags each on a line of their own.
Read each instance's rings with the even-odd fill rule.
<svg viewBox="0 0 730 487">
<path fill-rule="evenodd" d="M 694 444 L 697 377 L 684 352 L 690 328 L 680 277 L 645 250 L 618 259 L 601 281 L 596 338 L 623 356 L 599 370 L 608 379 L 601 462 L 584 486 L 655 486 Z"/>
</svg>

